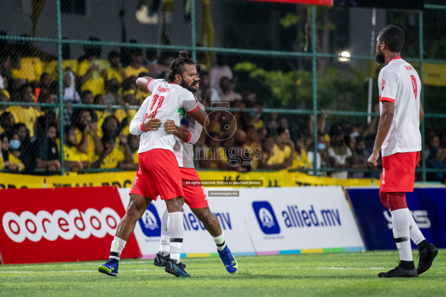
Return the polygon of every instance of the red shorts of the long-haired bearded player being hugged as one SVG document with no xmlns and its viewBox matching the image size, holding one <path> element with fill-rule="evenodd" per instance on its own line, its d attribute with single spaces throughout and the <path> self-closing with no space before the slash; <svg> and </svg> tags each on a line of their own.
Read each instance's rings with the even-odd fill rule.
<svg viewBox="0 0 446 297">
<path fill-rule="evenodd" d="M 140 169 L 136 171 L 130 194 L 142 195 L 157 200 L 184 197 L 181 173 L 173 152 L 153 149 L 138 154 Z"/>
</svg>

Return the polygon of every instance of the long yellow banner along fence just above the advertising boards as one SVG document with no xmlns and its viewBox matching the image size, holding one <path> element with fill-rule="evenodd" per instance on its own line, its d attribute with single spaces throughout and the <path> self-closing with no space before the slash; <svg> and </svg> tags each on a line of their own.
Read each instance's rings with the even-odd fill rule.
<svg viewBox="0 0 446 297">
<path fill-rule="evenodd" d="M 198 171 L 201 179 L 241 180 L 263 179 L 264 187 L 296 187 L 296 186 L 370 186 L 379 185 L 379 179 L 332 179 L 306 175 L 301 172 L 281 171 Z M 131 187 L 135 178 L 134 171 L 76 174 L 65 176 L 36 176 L 0 173 L 0 189 L 5 188 L 41 188 L 41 187 Z"/>
</svg>

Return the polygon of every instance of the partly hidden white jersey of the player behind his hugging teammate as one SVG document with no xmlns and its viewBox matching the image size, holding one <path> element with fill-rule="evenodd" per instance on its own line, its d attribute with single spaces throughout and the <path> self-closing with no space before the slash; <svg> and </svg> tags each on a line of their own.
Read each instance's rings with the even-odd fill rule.
<svg viewBox="0 0 446 297">
<path fill-rule="evenodd" d="M 198 107 L 204 110 L 204 106 L 198 102 Z M 177 157 L 178 165 L 185 168 L 194 168 L 194 144 L 200 138 L 203 126 L 201 126 L 190 114 L 185 113 L 181 119 L 182 129 L 189 132 L 189 138 L 183 142 L 180 138 L 175 137 L 175 145 L 173 146 L 173 153 Z"/>
</svg>

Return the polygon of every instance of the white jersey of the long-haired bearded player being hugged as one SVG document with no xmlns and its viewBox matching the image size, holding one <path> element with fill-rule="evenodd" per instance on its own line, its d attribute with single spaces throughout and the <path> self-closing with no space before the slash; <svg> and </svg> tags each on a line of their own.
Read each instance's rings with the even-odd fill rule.
<svg viewBox="0 0 446 297">
<path fill-rule="evenodd" d="M 194 112 L 198 109 L 198 104 L 189 90 L 180 85 L 171 84 L 164 79 L 151 79 L 147 83 L 147 90 L 152 92 L 152 95 L 144 100 L 130 122 L 130 133 L 141 135 L 138 153 L 153 149 L 165 149 L 173 152 L 175 136 L 167 134 L 164 130 L 166 120 L 173 120 L 175 125 L 179 126 L 183 110 Z M 152 113 L 155 113 L 152 118 L 160 119 L 161 127 L 156 131 L 146 132 L 142 123 Z"/>
</svg>

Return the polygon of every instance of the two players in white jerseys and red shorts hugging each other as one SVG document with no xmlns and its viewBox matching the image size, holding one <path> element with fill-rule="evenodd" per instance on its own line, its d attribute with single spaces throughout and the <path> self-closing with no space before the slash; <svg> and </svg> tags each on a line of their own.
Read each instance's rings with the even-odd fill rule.
<svg viewBox="0 0 446 297">
<path fill-rule="evenodd" d="M 101 273 L 118 274 L 120 254 L 136 221 L 158 195 L 165 200 L 167 209 L 161 219 L 160 250 L 153 264 L 165 267 L 166 272 L 177 277 L 190 277 L 185 271 L 186 265 L 180 262 L 184 234 L 182 205 L 186 202 L 210 232 L 226 270 L 235 273 L 238 268 L 225 244 L 219 221 L 207 205 L 204 188 L 182 187 L 183 179 L 199 179 L 192 147 L 202 127 L 209 124 L 204 107 L 194 97 L 200 81 L 199 70 L 189 53 L 181 51 L 165 79 L 140 77 L 136 80 L 139 87 L 152 93 L 130 122 L 130 133 L 141 135 L 140 169 L 130 190 L 126 214 L 111 242 L 109 260 L 99 266 Z M 186 122 L 188 125 L 184 125 Z"/>
</svg>

